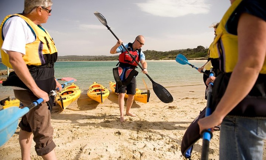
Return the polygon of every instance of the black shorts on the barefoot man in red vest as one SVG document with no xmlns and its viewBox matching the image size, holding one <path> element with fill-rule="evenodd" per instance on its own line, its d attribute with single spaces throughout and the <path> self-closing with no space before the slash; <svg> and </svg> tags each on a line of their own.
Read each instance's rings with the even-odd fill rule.
<svg viewBox="0 0 266 160">
<path fill-rule="evenodd" d="M 127 90 L 127 94 L 135 95 L 136 87 L 137 87 L 136 77 L 133 77 L 127 86 L 121 87 L 120 85 L 116 84 L 115 93 L 126 93 Z"/>
</svg>

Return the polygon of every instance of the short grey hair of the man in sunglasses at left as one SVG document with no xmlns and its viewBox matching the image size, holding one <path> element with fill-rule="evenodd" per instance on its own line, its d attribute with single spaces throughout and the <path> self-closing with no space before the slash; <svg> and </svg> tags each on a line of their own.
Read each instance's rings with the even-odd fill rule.
<svg viewBox="0 0 266 160">
<path fill-rule="evenodd" d="M 35 7 L 50 7 L 53 5 L 52 0 L 25 0 L 24 1 L 24 14 L 29 14 Z"/>
</svg>

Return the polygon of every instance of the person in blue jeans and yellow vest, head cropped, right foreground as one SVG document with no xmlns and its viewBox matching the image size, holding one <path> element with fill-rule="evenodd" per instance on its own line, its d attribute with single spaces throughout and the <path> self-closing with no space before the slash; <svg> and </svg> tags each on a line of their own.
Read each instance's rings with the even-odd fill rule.
<svg viewBox="0 0 266 160">
<path fill-rule="evenodd" d="M 266 139 L 266 6 L 264 0 L 231 0 L 216 30 L 219 70 L 212 114 L 200 133 L 221 124 L 220 159 L 264 159 Z M 208 79 L 207 79 L 208 82 Z M 265 154 L 265 153 L 264 153 Z"/>
</svg>

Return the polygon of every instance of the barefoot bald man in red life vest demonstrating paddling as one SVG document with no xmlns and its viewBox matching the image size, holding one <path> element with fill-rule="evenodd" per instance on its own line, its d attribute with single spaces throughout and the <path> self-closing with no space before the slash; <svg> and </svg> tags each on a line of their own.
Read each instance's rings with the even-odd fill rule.
<svg viewBox="0 0 266 160">
<path fill-rule="evenodd" d="M 119 55 L 119 67 L 114 68 L 116 70 L 113 70 L 114 72 L 114 78 L 116 80 L 116 93 L 119 93 L 118 95 L 118 105 L 120 109 L 120 122 L 125 122 L 124 119 L 124 97 L 127 90 L 128 98 L 127 98 L 127 108 L 126 108 L 126 114 L 129 116 L 135 117 L 136 115 L 133 114 L 130 109 L 134 100 L 134 95 L 136 93 L 136 77 L 138 75 L 138 72 L 135 71 L 135 68 L 137 67 L 136 62 L 132 59 L 132 57 L 127 53 L 127 51 L 123 48 L 121 45 L 123 43 L 122 40 L 118 40 L 116 42 L 116 45 L 114 45 L 110 53 L 121 53 Z M 145 39 L 142 35 L 138 35 L 135 38 L 135 41 L 133 43 L 128 43 L 125 45 L 127 50 L 130 51 L 131 55 L 135 57 L 137 62 L 140 62 L 142 65 L 142 68 L 144 69 L 142 71 L 143 74 L 148 73 L 147 71 L 147 62 L 145 61 L 145 55 L 141 51 L 141 47 L 144 45 Z M 118 72 L 118 73 L 117 73 Z"/>
</svg>

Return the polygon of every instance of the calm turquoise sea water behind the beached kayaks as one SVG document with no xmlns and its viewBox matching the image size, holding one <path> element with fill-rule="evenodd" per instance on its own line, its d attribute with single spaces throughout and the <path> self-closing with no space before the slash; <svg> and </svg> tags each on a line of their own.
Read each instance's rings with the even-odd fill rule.
<svg viewBox="0 0 266 160">
<path fill-rule="evenodd" d="M 189 61 L 196 67 L 201 67 L 206 61 L 193 60 Z M 158 60 L 147 61 L 148 63 L 148 75 L 154 82 L 167 87 L 183 86 L 183 85 L 202 85 L 202 74 L 189 65 L 181 65 L 175 60 Z M 116 67 L 117 61 L 79 61 L 79 62 L 56 62 L 55 63 L 55 76 L 57 78 L 72 77 L 77 79 L 76 85 L 87 93 L 88 87 L 93 82 L 98 82 L 109 90 L 109 81 L 114 81 L 112 69 Z M 6 70 L 6 66 L 0 63 L 0 70 Z M 150 79 L 142 74 L 141 69 L 137 76 L 137 87 L 139 89 L 145 89 L 145 85 L 142 82 L 142 77 L 150 90 L 152 90 L 152 83 Z M 3 77 L 3 76 L 2 76 Z M 6 75 L 4 76 L 6 77 Z M 64 83 L 65 81 L 59 81 Z M 14 97 L 12 87 L 6 87 L 0 85 L 0 100 L 10 96 Z"/>
</svg>

